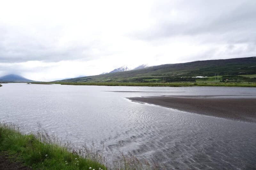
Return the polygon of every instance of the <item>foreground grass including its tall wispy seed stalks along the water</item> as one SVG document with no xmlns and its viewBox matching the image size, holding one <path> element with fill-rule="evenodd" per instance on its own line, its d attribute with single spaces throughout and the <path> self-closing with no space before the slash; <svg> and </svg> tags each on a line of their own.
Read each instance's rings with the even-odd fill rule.
<svg viewBox="0 0 256 170">
<path fill-rule="evenodd" d="M 64 146 L 63 146 L 64 145 Z M 138 159 L 135 155 L 115 156 L 111 162 L 103 156 L 102 150 L 85 145 L 77 146 L 50 137 L 38 123 L 35 134 L 22 134 L 15 124 L 0 123 L 0 155 L 10 159 L 10 163 L 22 163 L 32 169 L 74 169 L 74 170 L 100 170 L 100 169 L 159 169 L 159 164 L 150 166 L 147 160 Z M 92 167 L 90 169 L 90 167 Z M 151 168 L 152 167 L 152 168 Z"/>
</svg>

